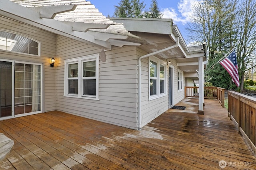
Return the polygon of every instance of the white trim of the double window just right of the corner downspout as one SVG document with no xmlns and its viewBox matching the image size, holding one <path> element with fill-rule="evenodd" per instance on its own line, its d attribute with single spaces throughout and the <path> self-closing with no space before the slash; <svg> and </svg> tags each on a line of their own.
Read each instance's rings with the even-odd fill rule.
<svg viewBox="0 0 256 170">
<path fill-rule="evenodd" d="M 157 77 L 150 76 L 150 61 L 154 61 L 157 64 Z M 164 66 L 164 78 L 160 78 L 160 64 Z M 166 70 L 166 63 L 156 57 L 149 57 L 148 59 L 148 101 L 154 100 L 157 98 L 161 98 L 166 96 L 166 89 L 167 89 L 167 70 Z M 156 95 L 150 96 L 150 79 L 156 80 Z M 160 94 L 160 80 L 164 80 L 164 93 Z"/>
</svg>

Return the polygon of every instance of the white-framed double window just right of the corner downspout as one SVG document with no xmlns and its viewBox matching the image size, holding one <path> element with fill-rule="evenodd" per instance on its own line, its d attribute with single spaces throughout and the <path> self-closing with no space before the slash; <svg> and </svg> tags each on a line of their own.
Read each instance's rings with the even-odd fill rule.
<svg viewBox="0 0 256 170">
<path fill-rule="evenodd" d="M 166 95 L 166 64 L 160 59 L 149 59 L 149 100 Z"/>
</svg>

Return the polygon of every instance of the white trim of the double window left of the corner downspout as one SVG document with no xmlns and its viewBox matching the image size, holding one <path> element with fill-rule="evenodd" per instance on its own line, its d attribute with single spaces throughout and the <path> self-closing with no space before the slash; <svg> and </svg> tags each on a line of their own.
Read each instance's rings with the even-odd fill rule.
<svg viewBox="0 0 256 170">
<path fill-rule="evenodd" d="M 84 61 L 96 61 L 96 96 L 86 96 L 82 94 L 83 89 L 83 77 L 82 77 L 82 64 Z M 78 63 L 78 94 L 68 94 L 68 64 Z M 74 59 L 67 59 L 64 61 L 65 68 L 64 68 L 64 97 L 71 97 L 71 98 L 83 98 L 83 99 L 90 99 L 90 100 L 99 100 L 99 54 L 94 55 L 87 55 L 84 57 L 78 57 Z"/>
</svg>

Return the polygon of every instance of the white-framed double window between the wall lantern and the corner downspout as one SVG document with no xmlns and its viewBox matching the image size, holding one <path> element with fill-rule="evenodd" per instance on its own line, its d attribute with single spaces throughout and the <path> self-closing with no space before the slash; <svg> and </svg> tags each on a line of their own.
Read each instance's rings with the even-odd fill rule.
<svg viewBox="0 0 256 170">
<path fill-rule="evenodd" d="M 64 96 L 99 99 L 99 55 L 65 60 Z"/>
</svg>

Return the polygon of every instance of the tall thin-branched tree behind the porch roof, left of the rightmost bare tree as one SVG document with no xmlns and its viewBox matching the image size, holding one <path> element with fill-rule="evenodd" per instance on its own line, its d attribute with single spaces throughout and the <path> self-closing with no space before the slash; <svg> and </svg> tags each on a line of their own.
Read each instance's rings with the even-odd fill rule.
<svg viewBox="0 0 256 170">
<path fill-rule="evenodd" d="M 202 0 L 194 6 L 194 17 L 188 24 L 190 41 L 206 42 L 209 59 L 214 59 L 219 51 L 230 51 L 233 36 L 232 23 L 237 0 Z"/>
</svg>

